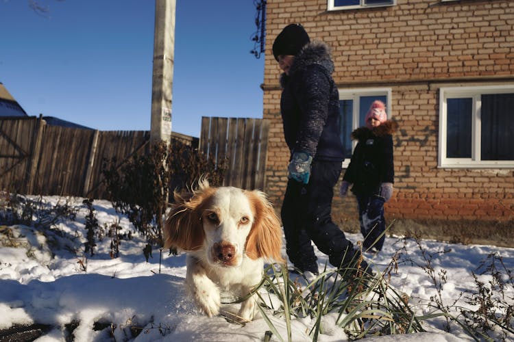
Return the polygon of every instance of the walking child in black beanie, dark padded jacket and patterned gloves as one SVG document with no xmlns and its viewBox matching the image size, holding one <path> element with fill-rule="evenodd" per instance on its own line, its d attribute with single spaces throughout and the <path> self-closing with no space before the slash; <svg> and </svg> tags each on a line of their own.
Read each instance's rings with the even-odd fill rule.
<svg viewBox="0 0 514 342">
<path fill-rule="evenodd" d="M 330 48 L 310 41 L 304 27 L 287 25 L 273 42 L 280 76 L 280 113 L 291 158 L 281 218 L 289 261 L 299 272 L 318 274 L 311 241 L 334 267 L 373 271 L 360 250 L 332 221 L 334 185 L 345 159 L 339 137 L 339 92 L 332 79 Z"/>
</svg>

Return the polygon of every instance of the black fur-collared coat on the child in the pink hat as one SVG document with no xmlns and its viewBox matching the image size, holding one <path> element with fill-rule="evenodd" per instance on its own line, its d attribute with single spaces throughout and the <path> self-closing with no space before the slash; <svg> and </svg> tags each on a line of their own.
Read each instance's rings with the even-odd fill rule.
<svg viewBox="0 0 514 342">
<path fill-rule="evenodd" d="M 374 129 L 360 127 L 352 132 L 358 140 L 343 181 L 353 183 L 357 196 L 378 194 L 380 184 L 394 183 L 393 136 L 395 121 L 387 120 Z"/>
</svg>

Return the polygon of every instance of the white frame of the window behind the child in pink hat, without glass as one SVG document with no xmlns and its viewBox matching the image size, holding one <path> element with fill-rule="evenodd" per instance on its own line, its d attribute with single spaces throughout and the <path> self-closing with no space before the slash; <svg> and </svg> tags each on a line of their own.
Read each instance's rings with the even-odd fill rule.
<svg viewBox="0 0 514 342">
<path fill-rule="evenodd" d="M 338 89 L 339 91 L 339 101 L 341 100 L 352 100 L 354 105 L 352 107 L 352 131 L 354 129 L 358 129 L 360 125 L 360 96 L 387 96 L 386 111 L 387 111 L 387 120 L 391 119 L 392 111 L 391 111 L 391 101 L 393 90 L 392 88 L 352 88 L 352 89 Z M 356 141 L 352 142 L 352 154 L 357 145 Z M 343 161 L 343 168 L 347 168 L 350 164 L 350 158 L 345 158 Z"/>
</svg>

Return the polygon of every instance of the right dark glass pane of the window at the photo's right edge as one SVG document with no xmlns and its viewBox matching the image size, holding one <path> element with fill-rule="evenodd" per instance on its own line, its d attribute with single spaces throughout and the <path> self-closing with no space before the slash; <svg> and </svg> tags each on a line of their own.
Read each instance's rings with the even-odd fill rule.
<svg viewBox="0 0 514 342">
<path fill-rule="evenodd" d="M 481 98 L 480 159 L 514 160 L 514 94 L 482 94 Z"/>
</svg>

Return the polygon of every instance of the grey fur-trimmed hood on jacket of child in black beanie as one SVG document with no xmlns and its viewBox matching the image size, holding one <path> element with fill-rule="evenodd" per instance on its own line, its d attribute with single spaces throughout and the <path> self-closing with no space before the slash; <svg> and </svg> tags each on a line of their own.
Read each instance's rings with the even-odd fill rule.
<svg viewBox="0 0 514 342">
<path fill-rule="evenodd" d="M 334 73 L 334 62 L 332 62 L 332 58 L 330 56 L 330 47 L 328 47 L 324 42 L 314 40 L 302 48 L 298 55 L 295 56 L 293 65 L 291 65 L 291 69 L 289 69 L 289 76 L 286 75 L 286 73 L 282 73 L 282 75 L 280 75 L 280 85 L 282 88 L 289 77 L 291 77 L 291 75 L 293 75 L 297 70 L 312 64 L 319 64 L 322 66 L 327 71 L 328 75 L 332 75 L 332 73 Z"/>
</svg>

